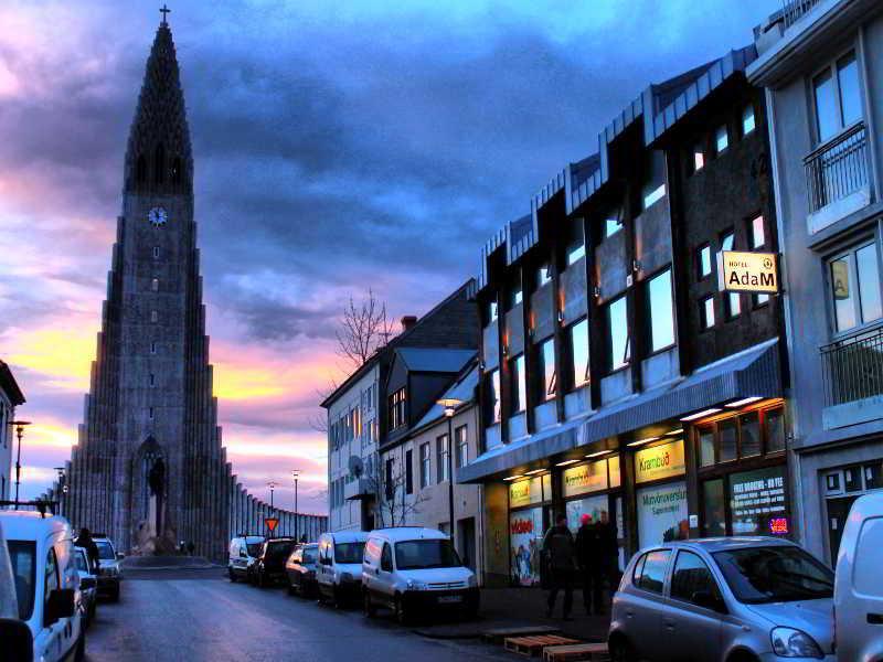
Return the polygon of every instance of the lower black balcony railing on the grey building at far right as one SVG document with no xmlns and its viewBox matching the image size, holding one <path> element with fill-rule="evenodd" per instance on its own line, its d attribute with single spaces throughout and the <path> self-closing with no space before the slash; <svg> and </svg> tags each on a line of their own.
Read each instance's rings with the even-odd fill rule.
<svg viewBox="0 0 883 662">
<path fill-rule="evenodd" d="M 883 396 L 883 328 L 821 348 L 825 405 Z"/>
</svg>

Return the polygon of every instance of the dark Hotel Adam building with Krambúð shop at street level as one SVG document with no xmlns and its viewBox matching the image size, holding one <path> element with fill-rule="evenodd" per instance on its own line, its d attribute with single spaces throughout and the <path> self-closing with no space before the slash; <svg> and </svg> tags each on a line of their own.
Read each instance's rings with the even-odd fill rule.
<svg viewBox="0 0 883 662">
<path fill-rule="evenodd" d="M 458 480 L 501 543 L 488 584 L 539 583 L 555 513 L 614 522 L 620 567 L 663 540 L 796 535 L 780 298 L 719 279 L 728 252 L 778 253 L 755 57 L 651 85 L 483 247 L 480 455 Z"/>
</svg>

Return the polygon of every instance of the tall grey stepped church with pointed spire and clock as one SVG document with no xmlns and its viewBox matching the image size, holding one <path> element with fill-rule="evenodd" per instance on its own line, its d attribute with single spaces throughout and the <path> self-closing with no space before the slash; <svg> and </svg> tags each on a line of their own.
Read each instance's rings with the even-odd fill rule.
<svg viewBox="0 0 883 662">
<path fill-rule="evenodd" d="M 147 61 L 125 159 L 123 213 L 108 274 L 85 420 L 57 485 L 75 526 L 120 549 L 161 554 L 180 542 L 223 558 L 231 535 L 315 540 L 326 517 L 275 509 L 245 492 L 221 445 L 196 247 L 193 156 L 171 30 Z"/>
</svg>

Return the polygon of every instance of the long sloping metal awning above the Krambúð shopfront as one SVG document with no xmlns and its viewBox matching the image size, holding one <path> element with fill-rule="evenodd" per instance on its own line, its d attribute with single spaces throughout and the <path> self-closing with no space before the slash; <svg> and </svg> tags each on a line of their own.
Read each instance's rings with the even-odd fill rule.
<svg viewBox="0 0 883 662">
<path fill-rule="evenodd" d="M 689 377 L 489 450 L 459 469 L 457 482 L 483 482 L 517 467 L 721 403 L 780 395 L 778 339 L 773 339 L 709 364 Z"/>
</svg>

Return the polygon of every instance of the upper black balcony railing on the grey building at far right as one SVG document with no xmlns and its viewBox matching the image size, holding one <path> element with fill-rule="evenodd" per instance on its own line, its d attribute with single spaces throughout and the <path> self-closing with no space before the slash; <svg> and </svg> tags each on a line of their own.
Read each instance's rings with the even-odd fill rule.
<svg viewBox="0 0 883 662">
<path fill-rule="evenodd" d="M 868 131 L 857 124 L 804 159 L 809 211 L 818 212 L 868 184 Z"/>
</svg>

